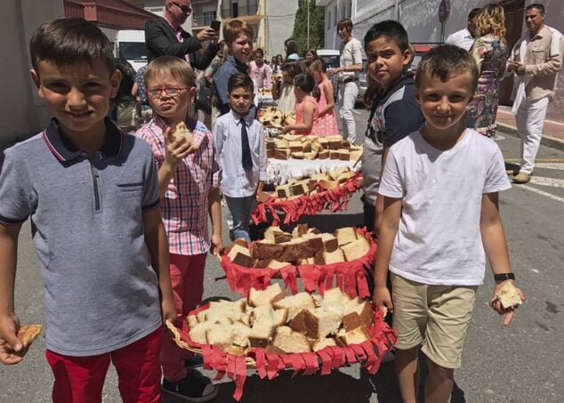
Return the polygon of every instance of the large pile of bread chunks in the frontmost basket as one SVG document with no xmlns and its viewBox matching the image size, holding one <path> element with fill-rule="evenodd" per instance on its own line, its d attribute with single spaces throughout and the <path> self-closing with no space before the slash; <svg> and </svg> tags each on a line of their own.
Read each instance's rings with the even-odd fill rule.
<svg viewBox="0 0 564 403">
<path fill-rule="evenodd" d="M 276 283 L 262 291 L 251 288 L 236 302 L 210 302 L 187 320 L 195 343 L 219 345 L 235 355 L 254 347 L 290 354 L 363 343 L 370 338 L 374 312 L 369 302 L 336 287 L 323 296 L 287 295 Z"/>
</svg>

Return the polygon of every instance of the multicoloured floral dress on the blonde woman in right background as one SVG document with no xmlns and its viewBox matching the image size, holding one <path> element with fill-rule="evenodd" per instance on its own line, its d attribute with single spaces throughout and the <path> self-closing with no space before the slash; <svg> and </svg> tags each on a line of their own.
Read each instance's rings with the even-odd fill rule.
<svg viewBox="0 0 564 403">
<path fill-rule="evenodd" d="M 496 115 L 499 103 L 499 79 L 504 76 L 509 47 L 504 37 L 480 36 L 471 47 L 471 55 L 479 69 L 478 88 L 466 109 L 467 127 L 487 137 L 496 135 Z"/>
</svg>

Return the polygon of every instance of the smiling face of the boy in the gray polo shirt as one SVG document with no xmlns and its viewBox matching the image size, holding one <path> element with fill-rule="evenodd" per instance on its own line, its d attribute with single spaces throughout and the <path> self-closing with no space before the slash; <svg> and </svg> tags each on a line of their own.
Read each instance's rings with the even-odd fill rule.
<svg viewBox="0 0 564 403">
<path fill-rule="evenodd" d="M 49 105 L 62 133 L 70 137 L 93 130 L 105 133 L 109 99 L 116 96 L 121 80 L 118 70 L 110 72 L 101 60 L 69 66 L 38 60 L 36 66 L 30 73 L 37 93 Z"/>
</svg>

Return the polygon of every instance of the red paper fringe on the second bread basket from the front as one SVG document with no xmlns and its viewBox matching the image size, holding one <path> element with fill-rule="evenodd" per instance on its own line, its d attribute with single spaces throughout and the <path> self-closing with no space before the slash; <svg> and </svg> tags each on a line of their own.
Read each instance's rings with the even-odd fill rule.
<svg viewBox="0 0 564 403">
<path fill-rule="evenodd" d="M 282 278 L 286 288 L 292 294 L 297 294 L 298 276 L 302 278 L 303 287 L 308 293 L 318 291 L 323 294 L 326 289 L 339 286 L 342 291 L 352 297 L 370 297 L 367 283 L 367 269 L 374 268 L 376 255 L 376 241 L 365 229 L 358 229 L 357 233 L 370 240 L 371 246 L 367 254 L 357 260 L 334 264 L 307 264 L 294 266 L 289 264 L 281 269 L 249 269 L 230 261 L 227 254 L 222 254 L 222 268 L 227 275 L 227 283 L 231 291 L 246 296 L 251 287 L 263 290 L 270 286 L 272 278 Z"/>
</svg>

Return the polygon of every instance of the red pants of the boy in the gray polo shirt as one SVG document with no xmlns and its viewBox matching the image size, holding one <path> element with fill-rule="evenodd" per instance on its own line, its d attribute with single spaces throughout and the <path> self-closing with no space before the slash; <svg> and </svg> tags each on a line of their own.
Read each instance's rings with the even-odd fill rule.
<svg viewBox="0 0 564 403">
<path fill-rule="evenodd" d="M 119 350 L 91 357 L 70 357 L 47 350 L 47 362 L 55 376 L 55 403 L 100 403 L 110 361 L 117 370 L 119 394 L 126 403 L 162 401 L 158 362 L 163 330 L 157 329 Z"/>
</svg>

